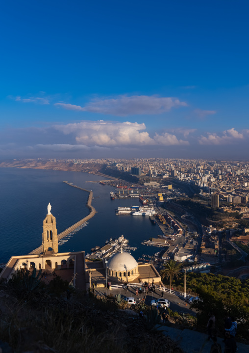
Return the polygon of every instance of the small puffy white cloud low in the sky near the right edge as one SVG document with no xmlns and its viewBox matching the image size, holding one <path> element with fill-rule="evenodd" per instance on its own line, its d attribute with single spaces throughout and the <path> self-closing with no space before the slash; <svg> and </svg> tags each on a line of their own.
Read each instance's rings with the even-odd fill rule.
<svg viewBox="0 0 249 353">
<path fill-rule="evenodd" d="M 216 133 L 207 133 L 207 136 L 199 137 L 199 143 L 201 145 L 221 145 L 234 143 L 244 138 L 243 134 L 240 134 L 234 128 L 225 130 L 222 134 L 220 136 Z"/>
</svg>

